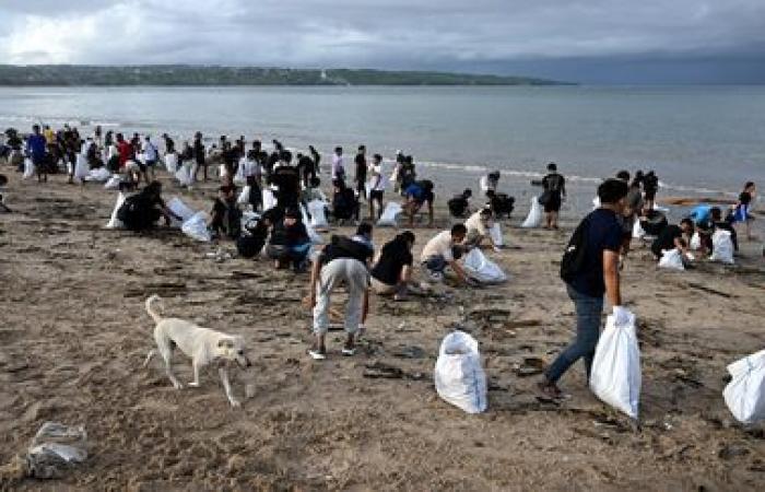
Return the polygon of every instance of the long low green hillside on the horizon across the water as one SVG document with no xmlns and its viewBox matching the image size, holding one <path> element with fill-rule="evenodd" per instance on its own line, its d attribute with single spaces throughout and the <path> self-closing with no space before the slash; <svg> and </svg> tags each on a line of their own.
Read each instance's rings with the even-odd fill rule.
<svg viewBox="0 0 765 492">
<path fill-rule="evenodd" d="M 0 65 L 0 85 L 560 85 L 525 77 L 209 66 Z"/>
</svg>

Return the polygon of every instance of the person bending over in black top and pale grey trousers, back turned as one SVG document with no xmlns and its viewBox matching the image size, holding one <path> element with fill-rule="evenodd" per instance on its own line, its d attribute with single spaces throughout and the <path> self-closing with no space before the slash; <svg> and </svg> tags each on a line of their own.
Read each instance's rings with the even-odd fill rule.
<svg viewBox="0 0 765 492">
<path fill-rule="evenodd" d="M 345 305 L 345 344 L 343 355 L 355 353 L 356 333 L 366 320 L 369 309 L 369 271 L 367 261 L 373 249 L 365 241 L 333 236 L 314 261 L 310 271 L 308 305 L 314 313 L 314 336 L 308 354 L 315 360 L 327 358 L 325 339 L 329 329 L 329 308 L 332 291 L 341 284 L 348 290 Z"/>
</svg>

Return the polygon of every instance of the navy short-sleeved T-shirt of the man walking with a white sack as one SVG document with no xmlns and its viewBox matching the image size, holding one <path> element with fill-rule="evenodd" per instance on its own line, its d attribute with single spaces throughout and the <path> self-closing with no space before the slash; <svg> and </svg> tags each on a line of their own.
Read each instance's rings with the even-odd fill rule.
<svg viewBox="0 0 765 492">
<path fill-rule="evenodd" d="M 602 297 L 605 293 L 603 251 L 620 251 L 623 237 L 622 226 L 619 224 L 616 213 L 612 210 L 598 209 L 590 212 L 588 218 L 585 262 L 569 284 L 580 294 Z"/>
</svg>

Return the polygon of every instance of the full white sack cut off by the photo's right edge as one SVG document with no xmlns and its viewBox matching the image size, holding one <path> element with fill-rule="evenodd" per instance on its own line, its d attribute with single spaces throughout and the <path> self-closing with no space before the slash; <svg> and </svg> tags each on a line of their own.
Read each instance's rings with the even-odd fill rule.
<svg viewBox="0 0 765 492">
<path fill-rule="evenodd" d="M 765 420 L 765 350 L 728 366 L 733 377 L 722 396 L 735 419 L 745 424 Z"/>
</svg>

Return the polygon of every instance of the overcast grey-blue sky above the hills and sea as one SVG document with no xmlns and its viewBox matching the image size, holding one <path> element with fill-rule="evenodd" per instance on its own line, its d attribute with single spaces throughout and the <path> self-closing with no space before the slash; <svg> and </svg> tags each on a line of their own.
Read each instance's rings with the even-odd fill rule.
<svg viewBox="0 0 765 492">
<path fill-rule="evenodd" d="M 3 0 L 2 63 L 765 83 L 765 0 Z"/>
</svg>

